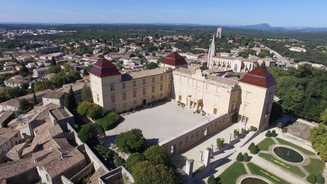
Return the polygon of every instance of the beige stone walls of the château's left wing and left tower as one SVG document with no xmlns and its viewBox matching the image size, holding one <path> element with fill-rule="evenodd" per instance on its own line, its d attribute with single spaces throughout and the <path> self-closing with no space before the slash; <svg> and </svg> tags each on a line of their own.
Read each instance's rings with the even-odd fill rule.
<svg viewBox="0 0 327 184">
<path fill-rule="evenodd" d="M 93 100 L 95 103 L 103 107 L 104 112 L 109 110 L 119 112 L 120 110 L 132 108 L 137 105 L 143 105 L 144 102 L 148 104 L 154 102 L 155 100 L 170 98 L 170 87 L 172 81 L 171 75 L 171 73 L 166 73 L 128 81 L 121 81 L 120 76 L 99 78 L 91 74 L 90 78 Z M 152 82 L 152 78 L 154 78 L 154 82 Z M 145 84 L 143 84 L 143 79 L 146 80 Z M 135 86 L 133 86 L 134 81 Z M 123 83 L 125 83 L 125 88 L 123 88 Z M 114 86 L 113 91 L 111 90 L 111 85 Z M 154 92 L 152 91 L 153 86 Z M 145 95 L 143 94 L 144 88 Z M 134 90 L 136 91 L 135 97 Z M 123 95 L 124 93 L 126 93 L 126 100 L 123 99 L 123 96 L 125 96 Z M 113 103 L 111 102 L 112 96 L 114 96 Z"/>
</svg>

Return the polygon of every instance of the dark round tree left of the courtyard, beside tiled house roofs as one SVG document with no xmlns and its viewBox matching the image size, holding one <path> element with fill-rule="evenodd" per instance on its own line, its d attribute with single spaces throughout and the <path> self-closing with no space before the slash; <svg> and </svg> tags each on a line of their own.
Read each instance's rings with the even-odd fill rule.
<svg viewBox="0 0 327 184">
<path fill-rule="evenodd" d="M 106 134 L 102 126 L 97 123 L 83 125 L 78 131 L 77 136 L 83 143 L 86 143 L 91 147 L 104 144 L 106 139 Z"/>
</svg>

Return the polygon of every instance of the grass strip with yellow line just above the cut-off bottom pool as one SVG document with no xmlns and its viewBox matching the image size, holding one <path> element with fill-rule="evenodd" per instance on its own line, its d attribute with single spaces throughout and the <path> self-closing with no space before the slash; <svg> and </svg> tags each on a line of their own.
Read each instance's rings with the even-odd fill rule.
<svg viewBox="0 0 327 184">
<path fill-rule="evenodd" d="M 255 175 L 259 175 L 259 176 L 263 176 L 267 179 L 269 179 L 270 181 L 272 181 L 273 183 L 276 183 L 276 184 L 290 184 L 289 182 L 271 174 L 270 172 L 262 169 L 261 167 L 253 164 L 253 163 L 247 163 L 247 167 L 250 169 L 251 173 L 252 174 L 255 174 Z M 233 182 L 235 183 L 235 182 Z"/>
</svg>

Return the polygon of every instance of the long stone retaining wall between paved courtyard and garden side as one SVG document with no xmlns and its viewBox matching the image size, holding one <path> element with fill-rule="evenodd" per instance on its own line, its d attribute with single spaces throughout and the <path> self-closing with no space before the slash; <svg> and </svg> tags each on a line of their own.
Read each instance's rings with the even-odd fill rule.
<svg viewBox="0 0 327 184">
<path fill-rule="evenodd" d="M 188 130 L 180 132 L 179 134 L 162 141 L 159 143 L 160 146 L 164 147 L 168 154 L 174 155 L 191 145 L 198 143 L 205 139 L 209 135 L 218 132 L 224 127 L 230 124 L 232 114 L 220 114 L 213 120 L 200 123 Z"/>
</svg>

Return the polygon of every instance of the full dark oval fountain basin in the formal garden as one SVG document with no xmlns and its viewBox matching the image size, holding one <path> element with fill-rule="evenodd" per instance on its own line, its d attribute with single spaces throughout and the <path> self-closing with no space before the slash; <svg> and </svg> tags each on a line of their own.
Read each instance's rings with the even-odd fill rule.
<svg viewBox="0 0 327 184">
<path fill-rule="evenodd" d="M 297 151 L 284 147 L 284 146 L 277 146 L 273 148 L 273 152 L 281 159 L 290 162 L 290 163 L 302 163 L 305 158 Z"/>
</svg>

